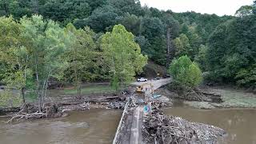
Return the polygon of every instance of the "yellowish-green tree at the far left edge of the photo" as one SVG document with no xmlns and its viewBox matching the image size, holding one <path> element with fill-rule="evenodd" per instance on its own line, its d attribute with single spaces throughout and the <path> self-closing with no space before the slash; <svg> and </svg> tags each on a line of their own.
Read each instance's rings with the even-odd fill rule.
<svg viewBox="0 0 256 144">
<path fill-rule="evenodd" d="M 2 82 L 7 86 L 21 90 L 25 103 L 25 90 L 29 89 L 32 77 L 28 67 L 29 52 L 26 50 L 26 39 L 22 37 L 22 26 L 12 17 L 0 18 L 0 63 L 4 70 Z"/>
</svg>

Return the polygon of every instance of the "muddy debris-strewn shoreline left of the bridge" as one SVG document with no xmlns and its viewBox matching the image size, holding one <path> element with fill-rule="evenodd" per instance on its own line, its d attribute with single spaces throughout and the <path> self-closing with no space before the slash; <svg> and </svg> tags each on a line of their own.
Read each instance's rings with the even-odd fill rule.
<svg viewBox="0 0 256 144">
<path fill-rule="evenodd" d="M 127 96 L 127 95 L 126 95 Z M 122 94 L 84 94 L 81 97 L 74 95 L 66 95 L 61 98 L 46 98 L 43 110 L 52 115 L 47 114 L 46 118 L 57 118 L 67 116 L 68 112 L 74 110 L 90 110 L 90 109 L 123 109 L 126 104 L 126 97 Z M 24 108 L 25 106 L 29 108 Z M 26 103 L 19 107 L 0 107 L 0 117 L 11 118 L 21 113 L 25 109 L 26 114 L 36 113 L 38 111 L 37 103 Z M 29 112 L 27 112 L 29 111 Z M 22 111 L 22 113 L 24 113 Z M 43 116 L 45 117 L 45 116 Z"/>
</svg>

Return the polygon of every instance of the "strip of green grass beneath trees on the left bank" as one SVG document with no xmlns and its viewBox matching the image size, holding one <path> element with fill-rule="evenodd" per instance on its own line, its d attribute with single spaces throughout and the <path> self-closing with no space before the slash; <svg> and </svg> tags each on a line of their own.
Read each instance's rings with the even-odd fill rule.
<svg viewBox="0 0 256 144">
<path fill-rule="evenodd" d="M 115 90 L 111 86 L 86 86 L 82 88 L 82 94 L 103 94 L 113 93 Z M 77 94 L 77 90 L 64 90 L 64 94 Z"/>
</svg>

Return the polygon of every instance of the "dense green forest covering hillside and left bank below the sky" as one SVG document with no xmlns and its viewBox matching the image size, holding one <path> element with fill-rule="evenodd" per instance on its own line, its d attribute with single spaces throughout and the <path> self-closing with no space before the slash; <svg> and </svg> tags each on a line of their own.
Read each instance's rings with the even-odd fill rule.
<svg viewBox="0 0 256 144">
<path fill-rule="evenodd" d="M 125 27 L 134 35 L 124 32 L 126 38 L 130 39 L 127 42 L 131 42 L 138 51 L 141 49 L 142 54 L 159 65 L 169 66 L 174 58 L 187 55 L 198 63 L 206 82 L 256 86 L 255 6 L 256 2 L 251 6 L 242 6 L 235 16 L 219 17 L 215 14 L 158 10 L 141 6 L 138 0 L 1 0 L 0 79 L 4 82 L 13 81 L 12 77 L 6 78 L 6 74 L 20 74 L 13 73 L 19 69 L 24 71 L 28 65 L 26 53 L 36 54 L 33 50 L 42 52 L 43 56 L 37 53 L 39 59 L 34 55 L 34 60 L 35 63 L 42 62 L 38 65 L 46 67 L 33 69 L 45 69 L 46 72 L 42 72 L 44 78 L 49 74 L 54 75 L 52 70 L 66 67 L 63 74 L 58 73 L 54 78 L 76 83 L 109 79 L 111 70 L 108 69 L 111 66 L 106 68 L 103 63 L 111 59 L 103 57 L 114 53 L 107 49 L 109 41 L 118 43 L 123 40 L 113 40 L 115 36 L 110 35 L 118 31 L 113 30 L 114 26 L 121 24 L 116 29 L 122 31 Z M 19 46 L 19 50 L 13 50 L 14 45 L 10 42 Z M 30 47 L 31 51 L 23 49 L 24 46 L 19 42 Z M 43 47 L 49 48 L 50 45 L 50 52 L 43 51 Z M 122 49 L 125 50 L 125 47 Z M 5 59 L 5 54 L 16 57 Z M 17 60 L 17 55 L 20 60 Z M 59 60 L 58 57 L 66 60 Z M 131 62 L 134 70 L 119 74 L 134 75 L 140 72 L 141 66 L 146 64 L 146 57 L 141 57 L 142 60 L 134 59 Z M 133 58 L 127 56 L 127 62 L 130 59 Z M 71 64 L 66 66 L 66 62 Z M 122 64 L 119 65 L 124 66 Z M 30 70 L 26 71 L 30 73 Z M 125 79 L 128 81 L 130 77 Z M 112 78 L 112 81 L 119 80 Z"/>
</svg>

